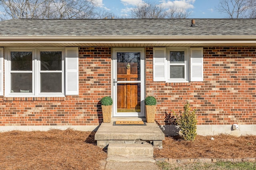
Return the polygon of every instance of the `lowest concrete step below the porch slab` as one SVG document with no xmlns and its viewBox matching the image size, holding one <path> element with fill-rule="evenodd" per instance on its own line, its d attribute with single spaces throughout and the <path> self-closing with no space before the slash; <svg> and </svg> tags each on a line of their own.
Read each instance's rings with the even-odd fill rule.
<svg viewBox="0 0 256 170">
<path fill-rule="evenodd" d="M 155 162 L 154 148 L 145 144 L 109 144 L 107 162 Z"/>
</svg>

